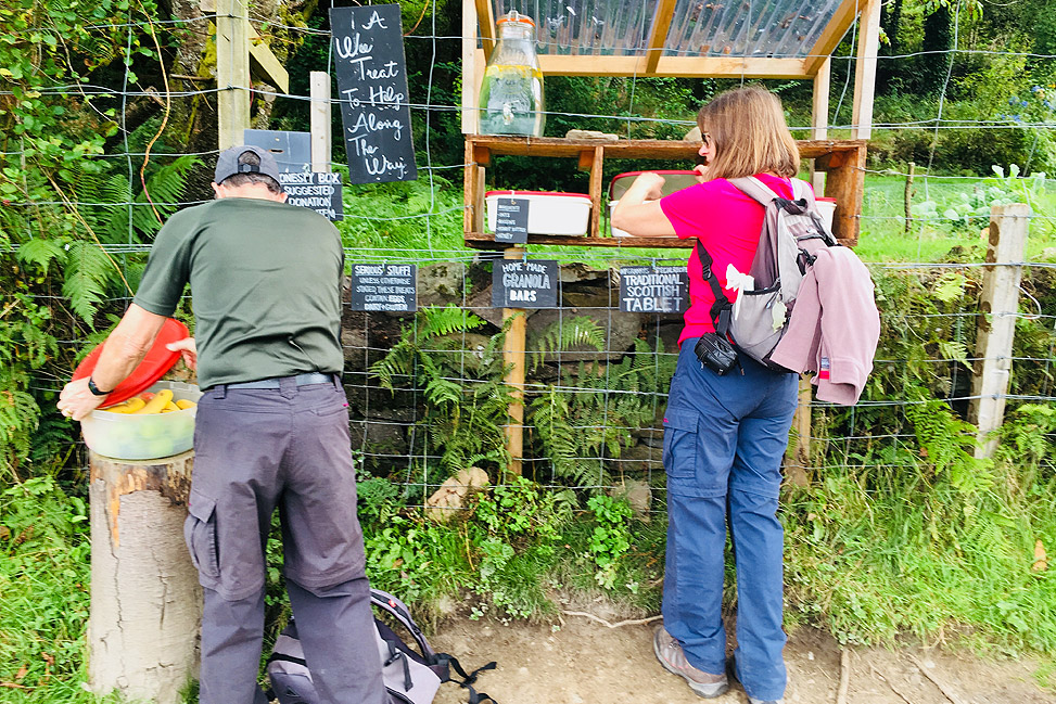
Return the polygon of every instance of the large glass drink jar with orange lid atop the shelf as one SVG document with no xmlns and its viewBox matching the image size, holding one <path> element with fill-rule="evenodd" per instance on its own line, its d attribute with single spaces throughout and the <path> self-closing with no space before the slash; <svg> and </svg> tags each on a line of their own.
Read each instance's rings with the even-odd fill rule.
<svg viewBox="0 0 1056 704">
<path fill-rule="evenodd" d="M 498 43 L 481 86 L 480 133 L 543 137 L 543 72 L 535 54 L 535 23 L 512 11 L 500 17 Z"/>
</svg>

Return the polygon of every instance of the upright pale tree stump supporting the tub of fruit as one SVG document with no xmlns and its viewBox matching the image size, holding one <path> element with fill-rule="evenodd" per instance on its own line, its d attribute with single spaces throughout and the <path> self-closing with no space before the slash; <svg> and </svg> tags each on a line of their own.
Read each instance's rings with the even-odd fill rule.
<svg viewBox="0 0 1056 704">
<path fill-rule="evenodd" d="M 138 462 L 91 452 L 88 681 L 176 704 L 198 676 L 202 590 L 183 543 L 194 452 Z"/>
</svg>

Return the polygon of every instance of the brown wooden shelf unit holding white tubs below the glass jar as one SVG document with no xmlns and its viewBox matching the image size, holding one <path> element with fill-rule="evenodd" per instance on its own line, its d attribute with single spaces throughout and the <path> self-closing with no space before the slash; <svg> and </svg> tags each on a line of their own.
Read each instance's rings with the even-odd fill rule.
<svg viewBox="0 0 1056 704">
<path fill-rule="evenodd" d="M 836 199 L 834 234 L 842 244 L 857 243 L 862 193 L 865 187 L 865 140 L 801 140 L 800 156 L 813 159 L 814 168 L 825 171 L 825 196 Z M 590 222 L 582 236 L 529 234 L 529 244 L 561 244 L 597 247 L 690 247 L 694 240 L 678 238 L 612 238 L 601 231 L 601 182 L 605 159 L 671 159 L 692 162 L 697 142 L 669 140 L 572 140 L 552 137 L 466 136 L 466 245 L 482 249 L 502 249 L 510 245 L 495 242 L 484 231 L 484 170 L 493 154 L 517 156 L 557 156 L 577 159 L 577 167 L 590 172 Z"/>
</svg>

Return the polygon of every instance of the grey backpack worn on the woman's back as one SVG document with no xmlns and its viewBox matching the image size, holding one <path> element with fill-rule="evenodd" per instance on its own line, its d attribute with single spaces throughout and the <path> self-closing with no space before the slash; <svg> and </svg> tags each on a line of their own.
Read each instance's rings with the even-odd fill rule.
<svg viewBox="0 0 1056 704">
<path fill-rule="evenodd" d="M 740 291 L 736 306 L 712 271 L 714 260 L 697 241 L 704 281 L 715 296 L 711 308 L 715 332 L 763 366 L 792 371 L 771 361 L 771 355 L 788 330 L 800 284 L 814 264 L 815 253 L 839 245 L 818 215 L 814 192 L 805 181 L 791 179 L 792 200 L 779 196 L 754 176 L 729 182 L 761 203 L 765 215 L 752 268 L 741 272 L 751 274 L 754 287 Z"/>
</svg>

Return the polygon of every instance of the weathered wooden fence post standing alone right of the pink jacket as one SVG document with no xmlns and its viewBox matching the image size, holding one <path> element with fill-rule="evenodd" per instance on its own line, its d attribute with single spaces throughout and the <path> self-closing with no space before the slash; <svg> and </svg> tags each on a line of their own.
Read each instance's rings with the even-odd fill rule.
<svg viewBox="0 0 1056 704">
<path fill-rule="evenodd" d="M 979 458 L 991 457 L 996 449 L 997 440 L 991 434 L 1001 427 L 1005 413 L 1029 217 L 1030 206 L 1022 203 L 995 205 L 990 212 L 990 242 L 979 298 L 982 315 L 977 323 L 968 409 L 968 420 L 979 431 Z"/>
</svg>

